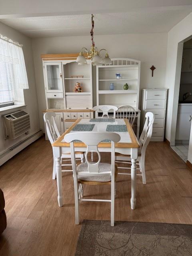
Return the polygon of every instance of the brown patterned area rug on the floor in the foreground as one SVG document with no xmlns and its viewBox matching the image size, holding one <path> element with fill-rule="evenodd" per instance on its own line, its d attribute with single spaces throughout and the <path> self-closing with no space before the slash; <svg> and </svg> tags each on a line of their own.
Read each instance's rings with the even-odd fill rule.
<svg viewBox="0 0 192 256">
<path fill-rule="evenodd" d="M 84 220 L 75 256 L 192 256 L 192 225 Z"/>
</svg>

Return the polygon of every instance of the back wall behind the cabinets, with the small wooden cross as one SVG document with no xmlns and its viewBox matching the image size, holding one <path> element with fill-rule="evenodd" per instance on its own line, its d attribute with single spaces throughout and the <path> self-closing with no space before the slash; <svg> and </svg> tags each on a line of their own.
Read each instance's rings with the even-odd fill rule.
<svg viewBox="0 0 192 256">
<path fill-rule="evenodd" d="M 98 48 L 106 48 L 111 58 L 134 58 L 141 61 L 140 88 L 164 88 L 166 71 L 167 33 L 95 36 Z M 40 125 L 44 128 L 42 110 L 46 108 L 41 54 L 77 53 L 90 48 L 90 36 L 51 37 L 32 39 Z M 154 65 L 154 77 L 150 67 Z M 93 75 L 95 72 L 93 72 Z M 95 79 L 95 76 L 93 77 Z M 94 95 L 96 94 L 94 86 Z M 95 97 L 94 97 L 95 98 Z M 95 102 L 94 102 L 95 104 Z"/>
</svg>

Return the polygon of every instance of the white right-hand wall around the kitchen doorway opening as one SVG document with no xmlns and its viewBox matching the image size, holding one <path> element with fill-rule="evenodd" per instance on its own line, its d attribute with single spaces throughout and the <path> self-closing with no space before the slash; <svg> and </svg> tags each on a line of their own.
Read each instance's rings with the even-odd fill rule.
<svg viewBox="0 0 192 256">
<path fill-rule="evenodd" d="M 175 141 L 183 40 L 192 35 L 192 13 L 181 20 L 168 32 L 166 87 L 169 88 L 166 138 L 173 145 Z"/>
</svg>

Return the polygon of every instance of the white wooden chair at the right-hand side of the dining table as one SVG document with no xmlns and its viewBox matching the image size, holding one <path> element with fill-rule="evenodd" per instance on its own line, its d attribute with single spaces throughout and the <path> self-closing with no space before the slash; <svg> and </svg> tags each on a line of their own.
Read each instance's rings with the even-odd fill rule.
<svg viewBox="0 0 192 256">
<path fill-rule="evenodd" d="M 146 184 L 146 174 L 145 174 L 145 153 L 146 148 L 150 142 L 151 136 L 152 136 L 152 129 L 153 129 L 153 122 L 154 122 L 154 114 L 152 112 L 147 112 L 146 115 L 146 121 L 144 124 L 144 128 L 142 131 L 142 134 L 139 138 L 139 144 L 140 148 L 138 148 L 138 163 L 137 165 L 139 168 L 137 170 L 140 170 L 141 174 L 137 174 L 139 176 L 142 176 L 143 184 Z M 129 155 L 123 155 L 116 153 L 115 154 L 116 163 L 125 163 L 125 164 L 131 164 L 131 159 Z M 118 169 L 131 169 L 130 167 L 120 167 L 118 166 Z M 126 174 L 130 175 L 130 173 L 120 173 L 118 174 Z"/>
</svg>

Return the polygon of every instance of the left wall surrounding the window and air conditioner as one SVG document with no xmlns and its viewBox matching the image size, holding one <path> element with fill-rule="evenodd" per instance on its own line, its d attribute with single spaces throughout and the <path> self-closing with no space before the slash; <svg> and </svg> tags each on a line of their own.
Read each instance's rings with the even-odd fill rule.
<svg viewBox="0 0 192 256">
<path fill-rule="evenodd" d="M 28 83 L 29 83 L 29 89 L 24 90 L 24 101 L 25 101 L 25 104 L 27 104 L 26 111 L 30 114 L 31 129 L 28 134 L 28 136 L 30 136 L 31 134 L 34 134 L 40 129 L 31 38 L 24 36 L 20 32 L 10 28 L 9 26 L 2 24 L 1 22 L 0 22 L 0 33 L 3 36 L 7 36 L 8 38 L 11 38 L 13 41 L 23 44 L 23 52 L 24 52 L 26 71 L 28 76 Z M 4 114 L 6 113 L 7 111 Z M 2 124 L 2 122 L 0 122 L 0 124 Z M 24 136 L 20 136 L 16 140 L 4 140 L 2 125 L 0 125 L 0 154 L 10 146 L 14 145 L 15 143 L 19 142 L 20 140 L 26 137 L 27 136 L 24 135 Z"/>
</svg>

